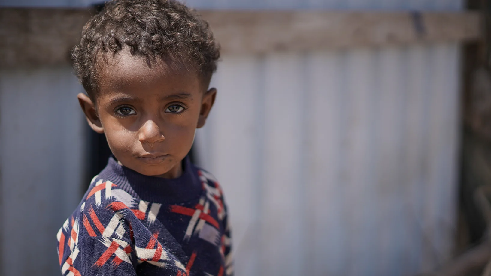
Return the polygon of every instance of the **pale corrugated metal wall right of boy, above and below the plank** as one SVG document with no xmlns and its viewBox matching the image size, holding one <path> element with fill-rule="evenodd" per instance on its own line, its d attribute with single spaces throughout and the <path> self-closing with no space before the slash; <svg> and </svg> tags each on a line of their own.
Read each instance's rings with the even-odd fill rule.
<svg viewBox="0 0 491 276">
<path fill-rule="evenodd" d="M 200 8 L 458 10 L 447 1 L 189 1 Z M 460 47 L 224 55 L 198 131 L 237 275 L 409 276 L 456 228 Z"/>
</svg>

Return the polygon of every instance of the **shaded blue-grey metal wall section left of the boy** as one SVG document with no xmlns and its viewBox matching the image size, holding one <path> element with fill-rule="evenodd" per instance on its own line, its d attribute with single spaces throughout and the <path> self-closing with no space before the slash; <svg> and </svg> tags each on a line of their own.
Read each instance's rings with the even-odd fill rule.
<svg viewBox="0 0 491 276">
<path fill-rule="evenodd" d="M 60 275 L 56 232 L 82 196 L 84 122 L 71 68 L 0 71 L 0 275 Z"/>
</svg>

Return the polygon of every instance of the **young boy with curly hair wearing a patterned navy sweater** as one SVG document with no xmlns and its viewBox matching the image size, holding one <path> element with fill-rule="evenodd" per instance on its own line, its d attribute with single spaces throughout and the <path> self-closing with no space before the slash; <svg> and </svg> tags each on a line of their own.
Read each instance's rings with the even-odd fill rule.
<svg viewBox="0 0 491 276">
<path fill-rule="evenodd" d="M 72 51 L 78 99 L 113 157 L 57 234 L 63 275 L 232 275 L 217 180 L 191 164 L 218 46 L 174 0 L 118 0 Z"/>
</svg>

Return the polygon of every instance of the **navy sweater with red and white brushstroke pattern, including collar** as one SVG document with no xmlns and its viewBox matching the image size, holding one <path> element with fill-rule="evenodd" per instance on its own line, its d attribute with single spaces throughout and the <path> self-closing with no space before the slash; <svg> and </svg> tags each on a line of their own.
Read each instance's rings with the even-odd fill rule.
<svg viewBox="0 0 491 276">
<path fill-rule="evenodd" d="M 227 211 L 217 180 L 144 176 L 112 157 L 57 234 L 64 276 L 228 276 Z"/>
</svg>

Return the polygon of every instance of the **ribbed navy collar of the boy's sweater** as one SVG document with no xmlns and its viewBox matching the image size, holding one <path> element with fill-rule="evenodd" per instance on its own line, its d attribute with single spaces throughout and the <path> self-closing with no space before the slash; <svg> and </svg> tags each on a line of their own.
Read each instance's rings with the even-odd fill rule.
<svg viewBox="0 0 491 276">
<path fill-rule="evenodd" d="M 191 201 L 201 194 L 201 185 L 196 168 L 189 156 L 182 161 L 183 174 L 177 178 L 145 176 L 121 166 L 111 156 L 108 165 L 99 177 L 109 180 L 133 197 L 143 201 L 162 204 L 177 204 Z"/>
</svg>

